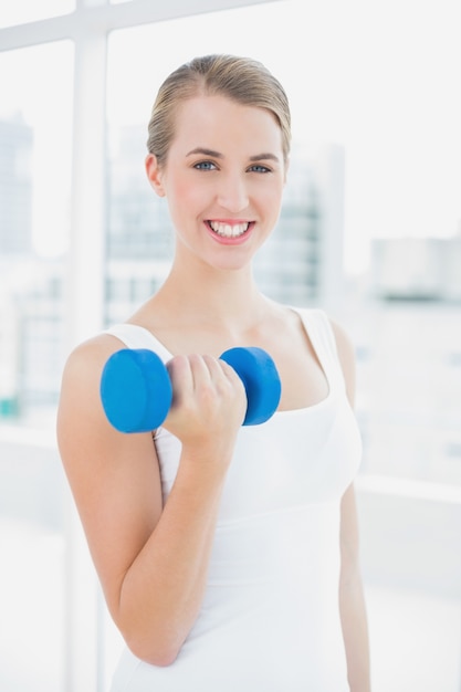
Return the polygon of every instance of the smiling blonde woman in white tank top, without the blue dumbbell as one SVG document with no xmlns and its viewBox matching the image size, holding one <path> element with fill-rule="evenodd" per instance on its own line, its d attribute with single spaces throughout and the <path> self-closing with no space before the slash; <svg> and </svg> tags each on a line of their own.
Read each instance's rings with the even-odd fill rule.
<svg viewBox="0 0 461 692">
<path fill-rule="evenodd" d="M 159 90 L 147 177 L 176 234 L 170 273 L 124 325 L 65 367 L 62 460 L 127 648 L 113 691 L 367 692 L 353 481 L 353 348 L 321 311 L 260 293 L 252 260 L 281 208 L 290 111 L 258 62 L 196 59 Z M 116 350 L 168 364 L 174 401 L 123 434 L 99 401 Z M 219 355 L 259 346 L 279 410 L 242 428 L 245 394 Z"/>
</svg>

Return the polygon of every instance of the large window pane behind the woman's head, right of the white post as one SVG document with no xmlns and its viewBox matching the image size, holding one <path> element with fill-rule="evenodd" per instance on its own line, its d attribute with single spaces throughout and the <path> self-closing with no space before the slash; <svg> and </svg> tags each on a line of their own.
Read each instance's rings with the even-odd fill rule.
<svg viewBox="0 0 461 692">
<path fill-rule="evenodd" d="M 305 3 L 292 0 L 112 34 L 107 321 L 125 318 L 147 297 L 148 276 L 158 284 L 168 268 L 171 230 L 165 200 L 151 192 L 143 162 L 158 85 L 198 52 L 259 59 L 285 86 L 293 115 L 284 207 L 256 262 L 260 285 L 283 302 L 329 305 L 352 331 L 366 445 L 363 471 L 461 483 L 454 423 L 460 413 L 461 333 L 451 326 L 460 318 L 457 272 L 450 276 L 458 303 L 442 311 L 437 304 L 430 312 L 425 305 L 392 310 L 366 301 L 364 310 L 366 305 L 370 313 L 364 322 L 368 312 L 354 307 L 357 300 L 368 298 L 367 272 L 377 237 L 451 238 L 451 258 L 461 256 L 454 239 L 461 219 L 455 3 L 444 0 L 444 19 L 421 11 L 416 32 L 410 4 L 404 3 L 401 14 L 399 4 L 390 3 L 379 21 L 365 13 L 365 24 L 357 25 L 355 18 L 364 9 L 358 1 L 354 8 L 335 3 L 334 22 L 331 3 L 311 6 L 306 22 Z M 447 22 L 448 15 L 453 21 Z M 290 31 L 280 31 L 287 24 Z M 268 40 L 254 41 L 255 27 L 264 27 Z M 433 27 L 441 50 L 429 54 L 425 36 Z M 401 266 L 405 274 L 408 252 L 397 252 L 400 264 L 390 253 L 390 269 Z M 427 266 L 426 276 L 432 272 L 431 282 L 438 281 L 437 270 L 423 261 L 426 254 L 433 260 L 432 250 L 410 254 L 417 277 L 425 276 Z M 130 291 L 129 279 L 136 283 Z M 427 332 L 428 319 L 437 329 Z M 402 335 L 399 340 L 397 334 Z M 391 444 L 392 460 L 387 454 Z"/>
</svg>

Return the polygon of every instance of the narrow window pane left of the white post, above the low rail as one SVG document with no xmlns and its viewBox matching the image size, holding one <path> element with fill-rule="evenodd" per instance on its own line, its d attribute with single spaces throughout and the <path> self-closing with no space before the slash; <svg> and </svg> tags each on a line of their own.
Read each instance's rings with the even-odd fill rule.
<svg viewBox="0 0 461 692">
<path fill-rule="evenodd" d="M 72 62 L 70 42 L 0 54 L 0 411 L 23 422 L 60 386 Z"/>
</svg>

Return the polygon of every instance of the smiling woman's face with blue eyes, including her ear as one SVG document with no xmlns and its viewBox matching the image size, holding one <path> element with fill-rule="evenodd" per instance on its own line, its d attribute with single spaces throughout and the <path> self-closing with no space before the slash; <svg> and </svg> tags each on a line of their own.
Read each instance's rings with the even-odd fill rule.
<svg viewBox="0 0 461 692">
<path fill-rule="evenodd" d="M 270 111 L 223 96 L 184 102 L 166 166 L 148 157 L 168 200 L 177 251 L 217 269 L 248 264 L 274 228 L 285 182 L 282 133 Z"/>
</svg>

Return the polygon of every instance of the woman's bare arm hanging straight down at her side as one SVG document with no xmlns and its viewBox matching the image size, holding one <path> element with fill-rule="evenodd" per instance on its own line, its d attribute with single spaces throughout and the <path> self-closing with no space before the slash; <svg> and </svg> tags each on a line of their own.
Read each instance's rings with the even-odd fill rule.
<svg viewBox="0 0 461 692">
<path fill-rule="evenodd" d="M 333 324 L 350 406 L 355 399 L 355 354 L 343 329 Z M 339 611 L 347 657 L 350 692 L 369 692 L 369 640 L 359 564 L 359 530 L 355 490 L 352 484 L 340 506 Z"/>
</svg>

